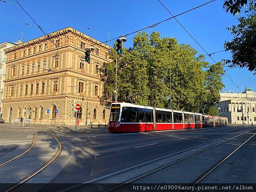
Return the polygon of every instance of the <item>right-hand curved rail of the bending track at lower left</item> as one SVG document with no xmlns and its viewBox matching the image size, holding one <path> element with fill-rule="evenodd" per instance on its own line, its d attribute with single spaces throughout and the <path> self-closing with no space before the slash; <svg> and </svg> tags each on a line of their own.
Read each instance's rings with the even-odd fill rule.
<svg viewBox="0 0 256 192">
<path fill-rule="evenodd" d="M 27 180 L 31 179 L 32 177 L 34 177 L 35 175 L 37 175 L 38 173 L 40 173 L 41 171 L 43 171 L 45 168 L 47 168 L 47 166 L 49 166 L 55 159 L 58 158 L 58 156 L 61 154 L 61 150 L 62 150 L 62 145 L 59 142 L 59 140 L 57 139 L 57 137 L 55 137 L 55 135 L 53 134 L 52 131 L 52 137 L 56 140 L 56 142 L 58 143 L 58 150 L 56 151 L 56 153 L 54 154 L 54 156 L 47 162 L 45 163 L 43 166 L 41 166 L 39 169 L 37 169 L 35 172 L 31 173 L 30 175 L 24 177 L 22 180 L 20 180 L 19 182 L 15 183 L 14 185 L 10 186 L 8 189 L 5 189 L 3 192 L 10 192 L 13 189 L 17 188 L 18 186 L 20 186 L 22 183 L 25 183 Z"/>
</svg>

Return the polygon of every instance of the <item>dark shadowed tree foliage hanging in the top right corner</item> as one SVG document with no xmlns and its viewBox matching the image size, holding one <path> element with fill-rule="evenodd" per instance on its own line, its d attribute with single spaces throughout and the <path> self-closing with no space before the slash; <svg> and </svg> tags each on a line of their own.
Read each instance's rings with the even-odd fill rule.
<svg viewBox="0 0 256 192">
<path fill-rule="evenodd" d="M 229 67 L 247 67 L 256 74 L 256 0 L 226 0 L 224 8 L 233 15 L 244 7 L 244 16 L 238 16 L 238 25 L 227 27 L 233 40 L 225 41 L 224 48 L 232 53 L 232 59 L 224 60 Z"/>
</svg>

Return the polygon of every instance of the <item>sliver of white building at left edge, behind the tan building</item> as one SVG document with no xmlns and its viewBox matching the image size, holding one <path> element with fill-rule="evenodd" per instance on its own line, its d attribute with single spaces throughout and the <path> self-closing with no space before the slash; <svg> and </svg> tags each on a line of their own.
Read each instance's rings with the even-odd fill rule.
<svg viewBox="0 0 256 192">
<path fill-rule="evenodd" d="M 3 111 L 3 93 L 4 93 L 4 80 L 6 75 L 6 53 L 4 49 L 13 47 L 15 44 L 3 42 L 0 43 L 0 117 Z"/>
</svg>

